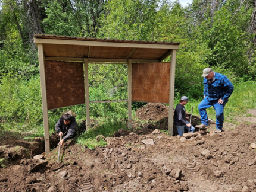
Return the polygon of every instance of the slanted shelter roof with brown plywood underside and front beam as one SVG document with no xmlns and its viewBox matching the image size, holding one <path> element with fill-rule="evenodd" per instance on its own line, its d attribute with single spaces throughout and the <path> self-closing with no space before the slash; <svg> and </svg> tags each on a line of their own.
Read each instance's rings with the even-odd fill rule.
<svg viewBox="0 0 256 192">
<path fill-rule="evenodd" d="M 36 44 L 43 44 L 44 56 L 50 60 L 149 59 L 148 62 L 155 62 L 165 59 L 171 50 L 179 49 L 179 43 L 163 41 L 110 40 L 45 34 L 35 34 L 34 40 Z"/>
</svg>

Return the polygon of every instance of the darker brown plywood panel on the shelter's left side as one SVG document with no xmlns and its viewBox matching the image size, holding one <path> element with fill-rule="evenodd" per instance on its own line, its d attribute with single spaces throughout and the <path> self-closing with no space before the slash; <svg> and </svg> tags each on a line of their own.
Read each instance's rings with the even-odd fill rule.
<svg viewBox="0 0 256 192">
<path fill-rule="evenodd" d="M 83 63 L 45 60 L 48 110 L 85 103 Z"/>
</svg>

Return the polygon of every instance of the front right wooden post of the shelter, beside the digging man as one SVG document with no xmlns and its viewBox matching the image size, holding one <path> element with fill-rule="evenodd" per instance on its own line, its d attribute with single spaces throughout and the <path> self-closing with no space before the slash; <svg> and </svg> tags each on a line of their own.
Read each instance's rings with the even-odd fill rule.
<svg viewBox="0 0 256 192">
<path fill-rule="evenodd" d="M 175 64 L 176 50 L 171 52 L 171 67 L 170 67 L 170 92 L 169 92 L 169 117 L 168 117 L 168 133 L 173 135 L 173 103 L 174 103 L 174 82 L 175 82 Z"/>
</svg>

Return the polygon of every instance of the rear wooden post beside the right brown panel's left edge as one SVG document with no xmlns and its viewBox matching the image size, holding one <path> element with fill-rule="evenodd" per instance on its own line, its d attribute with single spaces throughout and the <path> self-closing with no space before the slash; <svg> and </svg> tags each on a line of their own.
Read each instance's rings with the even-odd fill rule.
<svg viewBox="0 0 256 192">
<path fill-rule="evenodd" d="M 132 60 L 128 59 L 128 129 L 132 128 Z"/>
</svg>

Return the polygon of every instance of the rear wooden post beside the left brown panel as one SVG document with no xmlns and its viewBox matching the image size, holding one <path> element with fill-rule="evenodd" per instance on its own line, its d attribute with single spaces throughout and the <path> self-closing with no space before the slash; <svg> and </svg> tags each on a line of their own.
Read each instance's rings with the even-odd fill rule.
<svg viewBox="0 0 256 192">
<path fill-rule="evenodd" d="M 89 103 L 89 83 L 88 83 L 88 59 L 83 59 L 85 65 L 85 106 L 86 106 L 86 130 L 90 128 L 90 103 Z"/>
</svg>

